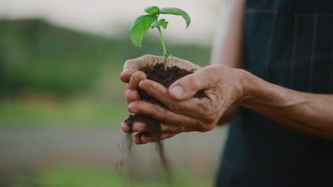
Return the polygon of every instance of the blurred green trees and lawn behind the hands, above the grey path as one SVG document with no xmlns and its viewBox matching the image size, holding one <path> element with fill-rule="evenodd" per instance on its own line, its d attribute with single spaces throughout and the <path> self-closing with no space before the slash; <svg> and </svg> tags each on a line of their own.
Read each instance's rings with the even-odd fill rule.
<svg viewBox="0 0 333 187">
<path fill-rule="evenodd" d="M 143 46 L 135 47 L 129 38 L 74 32 L 39 19 L 0 20 L 1 125 L 66 121 L 95 126 L 125 119 L 125 84 L 118 78 L 124 62 L 162 53 L 158 40 L 145 38 Z M 209 62 L 207 47 L 167 47 L 174 56 L 196 64 Z"/>
</svg>

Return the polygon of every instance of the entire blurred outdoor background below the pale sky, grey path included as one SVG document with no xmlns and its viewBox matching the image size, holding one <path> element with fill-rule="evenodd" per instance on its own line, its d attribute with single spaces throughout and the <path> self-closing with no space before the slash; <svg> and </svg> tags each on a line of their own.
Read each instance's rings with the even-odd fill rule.
<svg viewBox="0 0 333 187">
<path fill-rule="evenodd" d="M 154 144 L 124 153 L 120 130 L 129 113 L 119 73 L 128 59 L 162 54 L 157 32 L 137 48 L 129 22 L 106 36 L 21 17 L 0 19 L 0 186 L 169 187 Z M 165 39 L 174 56 L 209 64 L 209 45 Z M 174 187 L 212 186 L 224 135 L 164 141 Z"/>
</svg>

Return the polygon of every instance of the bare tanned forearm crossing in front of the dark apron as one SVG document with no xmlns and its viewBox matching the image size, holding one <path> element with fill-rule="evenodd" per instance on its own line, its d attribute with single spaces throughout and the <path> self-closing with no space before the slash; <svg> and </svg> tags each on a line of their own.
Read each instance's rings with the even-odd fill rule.
<svg viewBox="0 0 333 187">
<path fill-rule="evenodd" d="M 245 74 L 244 97 L 237 105 L 298 131 L 333 140 L 333 95 L 299 92 Z"/>
</svg>

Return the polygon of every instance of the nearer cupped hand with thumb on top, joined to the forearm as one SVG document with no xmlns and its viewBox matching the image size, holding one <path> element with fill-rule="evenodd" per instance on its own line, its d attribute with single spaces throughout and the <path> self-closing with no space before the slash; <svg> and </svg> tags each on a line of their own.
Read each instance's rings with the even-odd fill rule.
<svg viewBox="0 0 333 187">
<path fill-rule="evenodd" d="M 128 110 L 160 120 L 161 139 L 182 132 L 206 132 L 216 126 L 226 109 L 243 97 L 247 86 L 244 81 L 246 75 L 246 71 L 241 69 L 211 65 L 179 79 L 168 90 L 159 83 L 142 79 L 138 87 L 163 102 L 167 108 L 133 99 L 128 104 Z M 199 90 L 204 90 L 206 96 L 194 98 Z M 142 122 L 133 125 L 133 132 L 139 132 L 135 136 L 135 143 L 158 140 L 154 136 L 145 136 L 143 132 L 147 129 Z M 126 132 L 127 129 L 123 130 Z"/>
</svg>

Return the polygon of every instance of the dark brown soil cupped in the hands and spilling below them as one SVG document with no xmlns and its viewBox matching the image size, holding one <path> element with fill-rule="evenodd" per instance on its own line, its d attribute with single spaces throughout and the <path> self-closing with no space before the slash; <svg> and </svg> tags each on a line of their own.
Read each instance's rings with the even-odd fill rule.
<svg viewBox="0 0 333 187">
<path fill-rule="evenodd" d="M 164 64 L 156 64 L 153 67 L 145 67 L 143 69 L 140 69 L 143 72 L 146 73 L 147 78 L 153 81 L 156 81 L 162 85 L 164 85 L 166 88 L 168 88 L 173 82 L 176 80 L 184 77 L 185 75 L 193 73 L 193 70 L 189 71 L 183 68 L 179 68 L 176 66 L 173 67 L 167 67 L 167 69 L 164 69 Z M 139 90 L 139 95 L 141 100 L 151 102 L 154 104 L 159 104 L 162 107 L 166 107 L 162 102 L 159 102 L 152 96 L 150 96 L 146 91 L 144 90 Z M 194 97 L 204 97 L 203 91 L 199 91 Z M 149 128 L 149 134 L 146 132 L 145 136 L 156 136 L 159 141 L 157 141 L 157 147 L 158 147 L 158 153 L 161 159 L 162 166 L 166 172 L 166 177 L 168 180 L 170 179 L 170 168 L 168 161 L 166 159 L 166 155 L 164 152 L 164 147 L 162 142 L 160 141 L 160 136 L 161 136 L 161 126 L 160 126 L 160 121 L 157 119 L 150 118 L 145 115 L 141 114 L 134 114 L 130 115 L 128 119 L 125 120 L 127 124 L 131 127 L 134 122 L 140 121 L 140 122 L 145 122 Z M 145 133 L 145 132 L 143 132 Z M 170 182 L 170 180 L 169 180 Z"/>
</svg>

